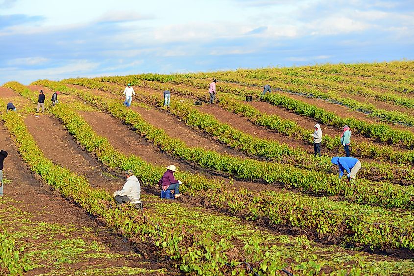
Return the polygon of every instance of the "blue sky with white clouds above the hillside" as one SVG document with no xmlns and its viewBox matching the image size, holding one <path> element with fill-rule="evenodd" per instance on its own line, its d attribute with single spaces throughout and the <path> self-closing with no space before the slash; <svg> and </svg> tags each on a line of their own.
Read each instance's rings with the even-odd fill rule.
<svg viewBox="0 0 414 276">
<path fill-rule="evenodd" d="M 0 0 L 0 85 L 414 59 L 414 0 Z"/>
</svg>

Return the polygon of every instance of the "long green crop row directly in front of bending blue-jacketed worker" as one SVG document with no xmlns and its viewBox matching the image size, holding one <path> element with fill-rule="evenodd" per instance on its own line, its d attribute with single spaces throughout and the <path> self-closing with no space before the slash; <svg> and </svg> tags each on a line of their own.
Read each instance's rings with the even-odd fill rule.
<svg viewBox="0 0 414 276">
<path fill-rule="evenodd" d="M 268 183 L 282 182 L 291 187 L 316 194 L 344 195 L 347 200 L 357 203 L 401 208 L 414 207 L 411 196 L 411 194 L 414 194 L 414 187 L 412 186 L 404 187 L 387 182 L 374 183 L 365 179 L 357 180 L 355 185 L 347 185 L 335 175 L 323 174 L 313 170 L 301 170 L 286 164 L 221 155 L 201 148 L 190 148 L 181 140 L 172 139 L 163 130 L 148 124 L 138 113 L 125 108 L 118 100 L 106 100 L 87 91 L 69 89 L 58 83 L 43 81 L 36 84 L 81 97 L 83 100 L 132 125 L 140 135 L 145 135 L 146 139 L 155 146 L 201 167 L 229 173 L 241 179 L 262 179 Z M 361 193 L 361 191 L 369 192 Z"/>
</svg>

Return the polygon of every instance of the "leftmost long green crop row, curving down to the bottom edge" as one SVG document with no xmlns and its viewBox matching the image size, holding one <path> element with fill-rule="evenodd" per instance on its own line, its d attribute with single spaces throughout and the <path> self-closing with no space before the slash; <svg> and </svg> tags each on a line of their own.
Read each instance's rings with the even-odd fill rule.
<svg viewBox="0 0 414 276">
<path fill-rule="evenodd" d="M 4 102 L 0 102 L 0 104 L 3 105 Z M 58 110 L 59 108 L 65 109 L 64 105 L 58 105 L 53 107 L 52 110 Z M 89 213 L 100 217 L 115 232 L 127 238 L 138 238 L 151 242 L 160 248 L 165 256 L 180 261 L 182 271 L 194 271 L 205 275 L 233 275 L 237 273 L 243 275 L 248 269 L 241 266 L 241 264 L 249 261 L 244 258 L 248 257 L 258 261 L 258 263 L 267 264 L 255 268 L 255 271 L 275 275 L 278 269 L 280 270 L 289 264 L 289 258 L 281 257 L 277 252 L 262 251 L 262 249 L 266 249 L 264 242 L 267 242 L 267 240 L 263 238 L 258 240 L 264 236 L 263 234 L 259 236 L 261 234 L 259 231 L 256 231 L 255 235 L 255 241 L 259 242 L 258 244 L 245 244 L 242 248 L 237 249 L 232 240 L 220 240 L 220 236 L 215 235 L 214 231 L 211 230 L 212 225 L 205 227 L 206 229 L 200 232 L 196 231 L 198 229 L 194 229 L 194 226 L 183 229 L 183 225 L 177 225 L 174 220 L 165 221 L 163 216 L 153 214 L 151 210 L 142 214 L 129 206 L 115 208 L 114 203 L 108 202 L 111 201 L 108 192 L 91 188 L 83 176 L 77 176 L 65 168 L 54 165 L 49 159 L 45 158 L 43 152 L 37 147 L 33 137 L 27 131 L 23 120 L 16 113 L 9 112 L 3 115 L 2 118 L 10 133 L 15 137 L 22 158 L 29 164 L 33 172 L 42 176 L 49 185 L 58 188 L 63 196 L 79 204 Z M 75 118 L 73 118 L 71 124 L 76 124 L 75 121 Z M 83 131 L 90 132 L 88 129 L 81 128 L 81 131 L 78 131 L 77 134 L 81 134 Z M 90 135 L 76 136 L 77 139 L 87 140 L 85 137 L 90 138 Z M 99 139 L 99 137 L 95 138 L 93 139 L 94 147 L 96 149 L 100 147 L 102 152 L 108 153 L 102 149 L 106 146 L 105 141 Z M 89 141 L 86 140 L 82 140 L 86 142 L 85 146 L 91 146 Z M 111 154 L 114 154 L 114 152 L 111 152 Z M 119 159 L 120 156 L 112 155 L 112 158 Z M 163 204 L 161 205 L 163 206 Z M 187 212 L 187 214 L 192 212 L 191 209 L 186 208 L 183 208 L 182 211 Z M 220 217 L 218 220 L 227 221 L 229 219 L 231 218 Z M 204 223 L 206 224 L 206 222 Z M 252 230 L 250 233 L 254 234 L 255 232 Z M 236 232 L 235 236 L 238 234 L 240 233 Z M 288 245 L 287 242 L 285 243 Z M 230 254 L 230 251 L 240 253 Z M 293 269 L 297 269 L 297 271 L 311 271 L 313 269 L 310 265 L 299 266 L 301 263 L 307 264 L 306 256 L 304 259 L 298 258 L 297 260 L 299 263 Z M 316 265 L 315 258 L 313 260 L 311 264 Z M 341 269 L 340 264 L 337 263 L 336 265 L 338 269 Z M 343 273 L 346 273 L 346 269 Z"/>
</svg>

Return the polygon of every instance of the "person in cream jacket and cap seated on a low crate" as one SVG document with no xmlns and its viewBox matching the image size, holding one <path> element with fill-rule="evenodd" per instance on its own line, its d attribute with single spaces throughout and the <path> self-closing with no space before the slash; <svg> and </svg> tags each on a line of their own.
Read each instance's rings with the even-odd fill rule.
<svg viewBox="0 0 414 276">
<path fill-rule="evenodd" d="M 132 170 L 123 171 L 126 182 L 121 191 L 114 192 L 114 198 L 117 204 L 127 203 L 129 201 L 139 201 L 141 198 L 141 186 L 138 178 L 134 176 Z"/>
</svg>

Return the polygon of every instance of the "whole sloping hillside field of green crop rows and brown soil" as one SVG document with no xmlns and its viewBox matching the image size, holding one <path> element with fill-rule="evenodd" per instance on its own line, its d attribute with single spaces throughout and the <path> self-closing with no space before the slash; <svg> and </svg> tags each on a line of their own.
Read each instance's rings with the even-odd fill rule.
<svg viewBox="0 0 414 276">
<path fill-rule="evenodd" d="M 414 275 L 414 61 L 16 79 L 0 106 L 0 275 Z M 112 197 L 127 169 L 142 211 Z"/>
</svg>

